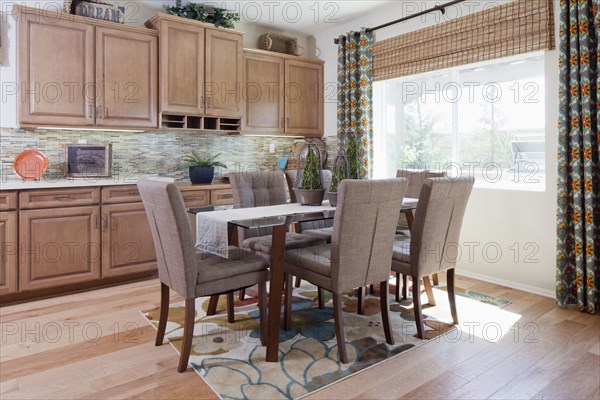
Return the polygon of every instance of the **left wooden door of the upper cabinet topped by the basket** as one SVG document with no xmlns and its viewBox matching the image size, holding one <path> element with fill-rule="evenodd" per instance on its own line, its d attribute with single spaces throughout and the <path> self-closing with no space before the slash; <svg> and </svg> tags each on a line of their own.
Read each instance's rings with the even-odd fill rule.
<svg viewBox="0 0 600 400">
<path fill-rule="evenodd" d="M 244 132 L 284 133 L 282 58 L 244 54 Z"/>
</svg>

